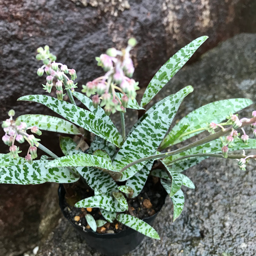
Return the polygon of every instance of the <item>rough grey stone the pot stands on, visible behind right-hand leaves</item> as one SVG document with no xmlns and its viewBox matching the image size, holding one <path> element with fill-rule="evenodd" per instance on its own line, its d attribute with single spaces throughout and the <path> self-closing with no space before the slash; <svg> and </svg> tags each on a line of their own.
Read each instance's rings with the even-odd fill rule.
<svg viewBox="0 0 256 256">
<path fill-rule="evenodd" d="M 191 84 L 178 118 L 214 100 L 249 97 L 256 101 L 256 34 L 241 34 L 221 43 L 173 77 L 158 97 Z M 243 113 L 255 109 L 255 105 Z M 161 241 L 145 238 L 126 256 L 254 256 L 256 254 L 256 170 L 240 171 L 236 161 L 207 159 L 185 174 L 195 190 L 184 188 L 185 207 L 172 223 L 169 198 L 155 221 Z M 150 245 L 150 246 L 149 246 Z M 38 256 L 100 256 L 63 218 Z"/>
</svg>

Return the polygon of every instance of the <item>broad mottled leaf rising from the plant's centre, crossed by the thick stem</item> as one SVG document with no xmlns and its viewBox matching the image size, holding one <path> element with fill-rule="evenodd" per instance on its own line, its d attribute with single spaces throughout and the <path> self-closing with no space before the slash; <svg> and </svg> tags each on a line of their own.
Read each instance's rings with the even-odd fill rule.
<svg viewBox="0 0 256 256">
<path fill-rule="evenodd" d="M 115 169 L 121 170 L 130 162 L 155 153 L 169 129 L 180 103 L 192 91 L 191 86 L 185 87 L 155 104 L 149 112 L 146 112 L 144 119 L 141 120 L 116 154 L 113 161 Z M 144 165 L 145 162 L 141 162 L 126 169 L 119 181 L 128 180 Z"/>
</svg>

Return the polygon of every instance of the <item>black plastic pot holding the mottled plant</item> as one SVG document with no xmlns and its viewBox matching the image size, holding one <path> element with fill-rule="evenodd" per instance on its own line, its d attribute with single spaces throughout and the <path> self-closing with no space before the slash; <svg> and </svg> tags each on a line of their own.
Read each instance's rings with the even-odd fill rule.
<svg viewBox="0 0 256 256">
<path fill-rule="evenodd" d="M 66 216 L 65 208 L 65 189 L 62 184 L 60 184 L 58 189 L 59 195 L 59 205 L 61 207 L 61 212 L 67 220 L 69 218 Z M 163 203 L 164 203 L 163 198 Z M 162 207 L 162 206 L 161 206 Z M 143 220 L 148 224 L 153 224 L 155 217 L 159 212 L 155 213 L 153 216 L 144 218 Z M 131 250 L 135 249 L 145 237 L 135 231 L 132 228 L 120 231 L 117 234 L 98 234 L 92 230 L 83 231 L 83 227 L 74 224 L 71 220 L 69 222 L 75 228 L 75 230 L 86 240 L 87 244 L 98 252 L 101 252 L 105 256 L 120 256 Z"/>
</svg>

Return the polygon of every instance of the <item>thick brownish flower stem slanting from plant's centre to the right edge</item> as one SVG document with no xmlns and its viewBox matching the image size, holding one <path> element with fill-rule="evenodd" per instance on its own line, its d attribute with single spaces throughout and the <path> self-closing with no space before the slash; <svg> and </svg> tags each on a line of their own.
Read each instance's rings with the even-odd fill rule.
<svg viewBox="0 0 256 256">
<path fill-rule="evenodd" d="M 251 123 L 255 123 L 256 122 L 256 117 L 253 117 L 251 118 L 249 121 L 245 121 L 242 123 L 242 126 L 240 126 L 239 128 L 242 128 L 244 126 L 248 126 L 250 125 Z M 151 160 L 151 159 L 160 159 L 160 158 L 163 158 L 163 157 L 166 157 L 166 156 L 169 156 L 169 155 L 176 155 L 176 154 L 179 154 L 181 152 L 184 152 L 188 149 L 191 149 L 191 148 L 195 148 L 197 146 L 200 146 L 202 144 L 205 144 L 207 142 L 210 142 L 210 141 L 214 141 L 216 139 L 218 139 L 219 137 L 221 136 L 224 136 L 225 134 L 229 133 L 231 130 L 232 130 L 233 126 L 230 126 L 228 128 L 226 128 L 224 131 L 219 131 L 217 133 L 213 133 L 205 138 L 202 138 L 201 140 L 199 141 L 195 141 L 191 144 L 188 144 L 182 148 L 179 148 L 179 149 L 176 149 L 176 150 L 173 150 L 173 151 L 170 151 L 170 152 L 166 152 L 166 153 L 162 153 L 162 154 L 158 154 L 158 155 L 150 155 L 150 156 L 147 156 L 147 157 L 143 157 L 141 159 L 138 159 L 136 161 L 133 161 L 131 162 L 130 164 L 128 164 L 127 166 L 125 166 L 123 169 L 120 170 L 120 172 L 122 173 L 124 170 L 128 169 L 129 167 L 137 164 L 137 163 L 140 163 L 140 162 L 144 162 L 144 161 L 148 161 L 148 160 Z"/>
</svg>

